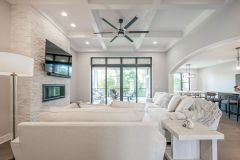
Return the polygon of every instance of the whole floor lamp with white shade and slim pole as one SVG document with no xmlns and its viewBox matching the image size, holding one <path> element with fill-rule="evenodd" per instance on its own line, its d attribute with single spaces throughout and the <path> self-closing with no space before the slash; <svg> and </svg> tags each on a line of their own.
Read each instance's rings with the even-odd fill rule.
<svg viewBox="0 0 240 160">
<path fill-rule="evenodd" d="M 33 76 L 32 58 L 8 52 L 0 52 L 0 75 L 10 76 L 12 82 L 12 139 L 16 138 L 15 111 L 17 107 L 17 77 Z"/>
</svg>

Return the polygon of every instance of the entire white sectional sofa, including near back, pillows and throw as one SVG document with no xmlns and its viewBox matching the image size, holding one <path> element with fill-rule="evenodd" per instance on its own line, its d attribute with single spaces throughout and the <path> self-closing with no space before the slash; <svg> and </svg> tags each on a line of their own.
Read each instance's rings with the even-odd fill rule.
<svg viewBox="0 0 240 160">
<path fill-rule="evenodd" d="M 12 148 L 16 160 L 38 160 L 38 156 L 41 160 L 86 160 L 87 156 L 93 156 L 91 160 L 160 160 L 165 152 L 165 137 L 169 141 L 162 120 L 190 117 L 216 130 L 221 115 L 217 105 L 204 99 L 164 92 L 155 93 L 146 104 L 113 101 L 110 106 L 52 107 L 40 113 L 39 122 L 19 125 L 19 138 L 12 142 Z M 40 151 L 44 146 L 51 149 Z M 93 146 L 99 147 L 91 149 Z M 33 154 L 28 155 L 29 151 Z"/>
</svg>

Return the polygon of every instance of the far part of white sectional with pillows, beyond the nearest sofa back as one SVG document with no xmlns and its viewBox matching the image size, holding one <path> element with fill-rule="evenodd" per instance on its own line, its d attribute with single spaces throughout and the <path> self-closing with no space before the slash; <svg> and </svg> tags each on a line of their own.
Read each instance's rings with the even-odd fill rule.
<svg viewBox="0 0 240 160">
<path fill-rule="evenodd" d="M 198 109 L 199 111 L 196 109 L 196 106 L 200 108 L 200 110 Z M 205 106 L 208 108 L 204 108 Z M 214 110 L 209 110 L 209 108 L 214 108 Z M 213 116 L 217 116 L 211 117 L 211 115 L 209 115 L 206 117 L 204 114 L 208 111 L 213 112 Z M 70 106 L 66 106 L 62 109 L 55 108 L 41 113 L 39 121 L 152 121 L 158 123 L 159 131 L 165 135 L 165 132 L 161 127 L 162 120 L 186 119 L 189 113 L 193 114 L 191 115 L 191 118 L 193 118 L 195 121 L 199 121 L 200 123 L 207 125 L 209 128 L 214 130 L 217 129 L 222 114 L 217 105 L 207 102 L 204 99 L 196 99 L 165 92 L 156 92 L 153 98 L 147 99 L 146 104 L 113 101 L 109 106 L 84 104 L 80 105 L 80 108 L 76 105 L 74 106 L 74 104 L 71 104 Z M 209 118 L 211 119 L 211 123 L 208 123 Z"/>
</svg>

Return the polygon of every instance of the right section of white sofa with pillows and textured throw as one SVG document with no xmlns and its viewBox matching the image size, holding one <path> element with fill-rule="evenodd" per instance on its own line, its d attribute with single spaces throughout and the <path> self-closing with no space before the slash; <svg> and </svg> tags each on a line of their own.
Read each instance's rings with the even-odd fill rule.
<svg viewBox="0 0 240 160">
<path fill-rule="evenodd" d="M 165 97 L 164 99 L 164 103 L 160 102 L 161 105 L 156 104 L 157 99 L 163 95 L 163 94 L 167 94 L 167 98 Z M 200 120 L 198 122 L 208 126 L 210 129 L 213 130 L 217 130 L 218 128 L 218 124 L 222 115 L 221 110 L 218 108 L 217 105 L 213 104 L 212 102 L 206 101 L 204 99 L 201 98 L 192 98 L 192 97 L 188 97 L 188 96 L 180 96 L 180 101 L 178 104 L 176 104 L 176 108 L 173 111 L 169 111 L 169 102 L 172 100 L 173 94 L 168 94 L 168 93 L 164 93 L 164 92 L 156 92 L 153 98 L 149 98 L 146 102 L 146 112 L 148 115 L 148 119 L 155 121 L 155 122 L 159 122 L 159 129 L 160 131 L 164 134 L 163 130 L 161 129 L 161 121 L 165 120 L 165 119 L 186 119 L 186 113 L 190 113 L 194 116 L 199 116 L 196 119 L 198 121 L 200 118 Z M 182 108 L 179 109 L 179 106 L 181 105 L 181 102 L 184 99 L 188 99 L 188 102 L 185 102 L 186 106 L 188 105 L 188 107 L 186 108 Z M 191 101 L 191 102 L 190 102 Z M 164 104 L 164 105 L 162 105 Z M 209 108 L 214 108 L 214 110 L 208 110 Z M 202 109 L 201 109 L 202 108 Z M 199 113 L 197 113 L 198 111 L 196 111 L 196 109 L 199 110 Z M 208 112 L 213 112 L 213 116 L 217 115 L 217 117 L 211 117 L 211 115 L 204 115 Z M 206 120 L 205 120 L 205 119 Z M 211 122 L 211 124 L 207 123 L 208 119 L 214 119 L 214 121 Z"/>
</svg>

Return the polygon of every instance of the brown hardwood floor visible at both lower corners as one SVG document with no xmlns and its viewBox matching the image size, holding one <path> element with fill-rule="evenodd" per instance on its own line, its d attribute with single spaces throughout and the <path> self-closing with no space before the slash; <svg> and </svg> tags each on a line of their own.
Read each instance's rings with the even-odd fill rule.
<svg viewBox="0 0 240 160">
<path fill-rule="evenodd" d="M 221 118 L 218 131 L 224 133 L 225 140 L 218 142 L 218 160 L 240 160 L 240 121 Z M 13 158 L 10 143 L 0 145 L 0 160 Z"/>
</svg>

